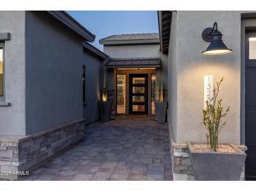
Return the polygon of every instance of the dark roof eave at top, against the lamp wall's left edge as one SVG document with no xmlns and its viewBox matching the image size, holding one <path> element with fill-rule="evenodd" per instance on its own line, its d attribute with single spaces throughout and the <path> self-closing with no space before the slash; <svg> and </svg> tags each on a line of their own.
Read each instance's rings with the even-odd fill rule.
<svg viewBox="0 0 256 192">
<path fill-rule="evenodd" d="M 163 54 L 168 54 L 170 43 L 170 24 L 172 22 L 172 11 L 157 11 L 159 19 L 160 48 Z"/>
</svg>

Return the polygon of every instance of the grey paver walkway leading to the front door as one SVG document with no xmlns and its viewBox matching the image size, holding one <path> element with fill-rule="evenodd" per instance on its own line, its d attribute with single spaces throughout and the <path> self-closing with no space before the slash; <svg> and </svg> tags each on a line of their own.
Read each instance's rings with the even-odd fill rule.
<svg viewBox="0 0 256 192">
<path fill-rule="evenodd" d="M 119 116 L 87 126 L 81 144 L 24 180 L 171 180 L 169 146 L 167 125 Z"/>
</svg>

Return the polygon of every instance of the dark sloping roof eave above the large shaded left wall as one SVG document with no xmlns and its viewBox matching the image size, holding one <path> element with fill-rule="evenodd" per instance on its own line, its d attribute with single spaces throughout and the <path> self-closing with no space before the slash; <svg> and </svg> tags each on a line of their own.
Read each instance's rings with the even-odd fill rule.
<svg viewBox="0 0 256 192">
<path fill-rule="evenodd" d="M 79 22 L 77 22 L 71 15 L 69 15 L 66 11 L 47 11 L 50 15 L 52 15 L 55 19 L 62 22 L 64 25 L 72 29 L 74 32 L 82 36 L 85 41 L 93 42 L 95 41 L 95 34 L 83 27 Z"/>
</svg>

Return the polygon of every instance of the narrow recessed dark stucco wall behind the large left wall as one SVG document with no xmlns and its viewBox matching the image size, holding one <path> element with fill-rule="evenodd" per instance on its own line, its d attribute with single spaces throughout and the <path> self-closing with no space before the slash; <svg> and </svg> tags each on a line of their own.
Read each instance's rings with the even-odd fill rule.
<svg viewBox="0 0 256 192">
<path fill-rule="evenodd" d="M 86 66 L 86 106 L 84 117 L 86 124 L 99 120 L 97 102 L 101 100 L 101 92 L 104 81 L 104 65 L 100 57 L 91 55 L 84 50 L 83 64 Z"/>
</svg>

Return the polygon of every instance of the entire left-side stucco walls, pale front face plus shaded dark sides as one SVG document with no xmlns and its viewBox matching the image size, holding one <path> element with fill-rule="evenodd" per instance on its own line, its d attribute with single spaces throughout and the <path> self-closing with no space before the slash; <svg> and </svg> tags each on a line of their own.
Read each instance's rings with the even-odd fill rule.
<svg viewBox="0 0 256 192">
<path fill-rule="evenodd" d="M 4 42 L 0 135 L 32 135 L 81 118 L 97 121 L 103 53 L 84 49 L 84 36 L 47 11 L 0 11 L 0 21 L 0 32 L 11 33 Z M 4 107 L 4 102 L 11 106 Z"/>
</svg>

